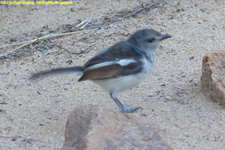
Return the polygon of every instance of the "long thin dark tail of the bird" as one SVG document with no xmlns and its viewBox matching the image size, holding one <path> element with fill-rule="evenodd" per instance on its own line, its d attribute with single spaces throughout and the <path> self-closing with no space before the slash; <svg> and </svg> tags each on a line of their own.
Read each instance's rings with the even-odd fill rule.
<svg viewBox="0 0 225 150">
<path fill-rule="evenodd" d="M 48 75 L 54 75 L 54 74 L 83 72 L 83 70 L 84 70 L 83 67 L 80 67 L 80 66 L 45 70 L 45 71 L 41 71 L 41 72 L 32 74 L 31 77 L 30 77 L 30 80 L 35 80 L 37 78 L 45 77 L 45 76 L 48 76 Z"/>
</svg>

